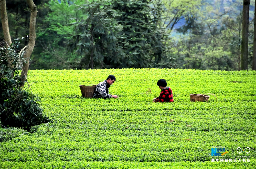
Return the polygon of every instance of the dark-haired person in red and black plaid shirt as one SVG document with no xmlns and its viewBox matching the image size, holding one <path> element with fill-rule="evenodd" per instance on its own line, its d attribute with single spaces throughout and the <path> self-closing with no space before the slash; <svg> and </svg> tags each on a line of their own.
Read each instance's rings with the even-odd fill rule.
<svg viewBox="0 0 256 169">
<path fill-rule="evenodd" d="M 167 86 L 167 82 L 164 79 L 157 81 L 157 86 L 162 90 L 159 97 L 153 98 L 153 102 L 173 102 L 173 91 Z"/>
</svg>

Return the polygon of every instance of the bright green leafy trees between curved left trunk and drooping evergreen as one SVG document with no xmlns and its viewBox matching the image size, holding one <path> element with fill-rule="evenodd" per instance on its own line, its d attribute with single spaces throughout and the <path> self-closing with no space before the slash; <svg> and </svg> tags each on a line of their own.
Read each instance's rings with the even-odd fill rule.
<svg viewBox="0 0 256 169">
<path fill-rule="evenodd" d="M 82 59 L 81 55 L 67 52 L 66 43 L 73 32 L 70 24 L 83 17 L 82 12 L 76 10 L 79 1 L 72 5 L 71 1 L 68 2 L 47 1 L 38 5 L 38 15 L 42 15 L 42 20 L 37 20 L 38 44 L 31 58 L 31 69 L 73 69 Z"/>
</svg>

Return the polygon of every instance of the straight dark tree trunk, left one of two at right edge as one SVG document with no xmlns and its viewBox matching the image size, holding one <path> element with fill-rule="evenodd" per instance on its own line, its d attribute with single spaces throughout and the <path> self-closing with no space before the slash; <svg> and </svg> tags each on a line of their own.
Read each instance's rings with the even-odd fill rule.
<svg viewBox="0 0 256 169">
<path fill-rule="evenodd" d="M 248 69 L 249 7 L 250 1 L 243 1 L 241 70 Z"/>
</svg>

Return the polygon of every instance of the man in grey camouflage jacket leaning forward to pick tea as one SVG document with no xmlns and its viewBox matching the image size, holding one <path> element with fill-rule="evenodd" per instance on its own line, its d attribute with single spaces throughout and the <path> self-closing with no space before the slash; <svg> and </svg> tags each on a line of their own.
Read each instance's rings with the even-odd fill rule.
<svg viewBox="0 0 256 169">
<path fill-rule="evenodd" d="M 112 85 L 115 82 L 115 76 L 114 75 L 109 75 L 108 78 L 106 80 L 104 80 L 103 82 L 100 82 L 95 90 L 94 90 L 94 94 L 92 97 L 94 98 L 118 98 L 117 95 L 112 95 L 109 94 L 109 87 L 110 85 Z"/>
</svg>

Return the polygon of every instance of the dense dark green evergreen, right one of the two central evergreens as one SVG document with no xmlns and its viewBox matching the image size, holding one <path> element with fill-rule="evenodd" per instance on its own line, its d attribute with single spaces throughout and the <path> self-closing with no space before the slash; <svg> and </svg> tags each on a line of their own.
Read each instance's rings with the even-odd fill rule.
<svg viewBox="0 0 256 169">
<path fill-rule="evenodd" d="M 161 59 L 163 61 L 163 58 L 166 58 L 164 55 L 168 49 L 166 47 L 168 34 L 158 26 L 158 16 L 162 12 L 159 9 L 161 5 L 152 8 L 150 3 L 150 1 L 114 2 L 113 9 L 122 13 L 121 17 L 115 17 L 117 23 L 123 26 L 123 30 L 118 33 L 123 37 L 120 41 L 125 50 L 125 57 L 122 58 L 120 67 L 143 68 L 166 65 L 160 63 Z"/>
</svg>

